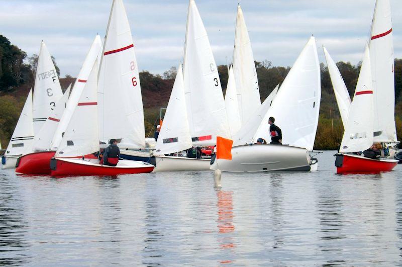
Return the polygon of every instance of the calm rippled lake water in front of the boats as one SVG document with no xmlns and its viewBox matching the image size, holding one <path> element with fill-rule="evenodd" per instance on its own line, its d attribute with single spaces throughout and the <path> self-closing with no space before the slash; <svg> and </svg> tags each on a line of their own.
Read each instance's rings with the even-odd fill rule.
<svg viewBox="0 0 402 267">
<path fill-rule="evenodd" d="M 402 166 L 117 177 L 0 170 L 0 264 L 402 265 Z"/>
</svg>

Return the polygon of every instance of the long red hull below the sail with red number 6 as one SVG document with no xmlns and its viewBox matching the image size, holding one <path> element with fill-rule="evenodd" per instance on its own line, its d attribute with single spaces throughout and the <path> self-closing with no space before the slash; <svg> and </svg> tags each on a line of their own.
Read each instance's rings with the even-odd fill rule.
<svg viewBox="0 0 402 267">
<path fill-rule="evenodd" d="M 151 172 L 154 166 L 136 168 L 106 167 L 103 165 L 86 165 L 56 159 L 56 169 L 52 170 L 53 176 L 87 176 L 87 175 L 118 175 Z"/>
</svg>

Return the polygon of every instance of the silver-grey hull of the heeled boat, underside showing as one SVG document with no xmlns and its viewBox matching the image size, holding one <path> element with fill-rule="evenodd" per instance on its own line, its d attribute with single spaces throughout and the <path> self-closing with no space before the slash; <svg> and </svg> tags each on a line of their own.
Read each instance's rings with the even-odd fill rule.
<svg viewBox="0 0 402 267">
<path fill-rule="evenodd" d="M 211 169 L 233 172 L 257 172 L 274 170 L 317 170 L 318 162 L 310 157 L 305 148 L 253 144 L 232 148 L 232 160 L 214 161 Z"/>
</svg>

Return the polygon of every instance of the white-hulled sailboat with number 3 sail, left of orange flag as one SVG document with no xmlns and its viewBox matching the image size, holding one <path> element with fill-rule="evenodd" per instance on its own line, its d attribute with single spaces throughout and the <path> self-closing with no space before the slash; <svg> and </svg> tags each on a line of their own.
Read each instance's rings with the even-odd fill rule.
<svg viewBox="0 0 402 267">
<path fill-rule="evenodd" d="M 150 159 L 150 162 L 155 165 L 155 171 L 208 170 L 210 159 L 193 159 L 179 156 L 177 153 L 191 148 L 191 146 L 214 145 L 217 136 L 230 137 L 217 66 L 207 31 L 194 0 L 190 0 L 188 6 L 183 62 L 182 81 L 180 78 L 181 70 L 179 70 L 174 84 L 174 91 L 172 91 L 166 111 L 169 117 L 165 115 L 153 152 L 154 157 Z M 176 99 L 180 99 L 180 102 L 175 101 L 173 93 L 181 95 L 181 90 L 184 91 L 184 98 L 177 97 Z M 185 107 L 186 114 L 182 110 L 177 110 L 174 107 L 175 105 Z M 173 115 L 174 113 L 176 115 Z M 175 116 L 184 115 L 187 119 L 175 119 Z M 181 136 L 181 142 L 179 142 L 178 135 L 183 134 L 184 129 L 187 127 L 190 139 L 188 139 L 188 133 L 186 133 L 185 136 Z M 164 147 L 168 145 L 163 143 L 163 139 L 176 137 L 177 142 L 170 144 L 174 147 L 172 148 L 173 151 L 166 152 Z M 176 153 L 176 155 L 165 155 L 170 153 Z"/>
</svg>

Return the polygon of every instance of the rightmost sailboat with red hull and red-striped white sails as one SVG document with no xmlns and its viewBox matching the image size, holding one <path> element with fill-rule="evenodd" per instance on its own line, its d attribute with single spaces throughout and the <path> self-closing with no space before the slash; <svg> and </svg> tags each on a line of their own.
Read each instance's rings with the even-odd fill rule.
<svg viewBox="0 0 402 267">
<path fill-rule="evenodd" d="M 369 53 L 369 55 L 368 55 Z M 355 98 L 349 111 L 348 125 L 345 128 L 344 138 L 339 153 L 336 155 L 335 166 L 338 173 L 346 172 L 380 172 L 390 171 L 397 160 L 380 158 L 369 159 L 363 156 L 350 154 L 350 152 L 360 152 L 368 149 L 373 143 L 382 143 L 383 146 L 392 147 L 397 143 L 395 127 L 395 93 L 394 93 L 394 55 L 392 41 L 392 21 L 391 8 L 389 0 L 377 0 L 375 4 L 374 16 L 371 25 L 371 35 L 366 48 L 363 62 L 365 62 L 366 72 L 370 72 L 372 82 L 361 81 L 364 88 L 372 90 L 363 90 L 361 86 L 356 86 Z M 368 62 L 369 61 L 369 62 Z M 363 65 L 362 65 L 363 69 Z M 360 70 L 360 76 L 362 75 Z M 368 74 L 364 74 L 368 76 Z M 359 76 L 359 79 L 360 79 Z M 364 77 L 364 76 L 363 76 Z M 359 85 L 359 84 L 358 84 Z M 371 93 L 369 93 L 371 91 Z M 361 93 L 366 92 L 366 93 Z M 354 123 L 359 122 L 359 108 L 353 111 L 353 106 L 358 106 L 359 99 L 363 95 L 370 98 L 372 103 L 370 115 L 360 115 L 367 118 L 371 116 L 370 122 L 360 123 L 359 126 Z M 371 100 L 372 99 L 372 100 Z M 367 105 L 367 103 L 365 103 Z M 357 119 L 355 119 L 357 117 Z M 351 129 L 349 129 L 349 128 Z M 350 136 L 348 136 L 350 134 Z M 363 137 L 362 137 L 363 136 Z M 365 136 L 365 137 L 364 137 Z M 365 142 L 363 142 L 365 140 Z"/>
</svg>

